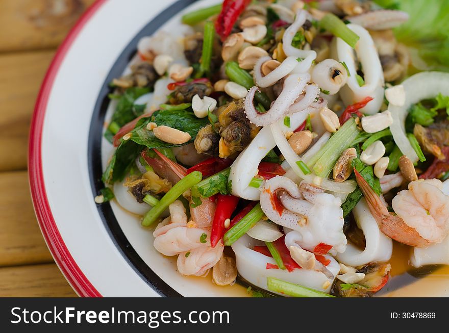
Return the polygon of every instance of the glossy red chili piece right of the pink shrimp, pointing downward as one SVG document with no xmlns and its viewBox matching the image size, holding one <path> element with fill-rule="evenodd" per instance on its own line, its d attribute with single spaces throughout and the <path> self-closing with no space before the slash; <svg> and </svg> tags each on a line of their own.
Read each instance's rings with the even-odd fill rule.
<svg viewBox="0 0 449 333">
<path fill-rule="evenodd" d="M 211 246 L 215 247 L 224 235 L 224 221 L 231 218 L 240 198 L 233 195 L 217 195 L 217 208 L 211 230 Z"/>
</svg>

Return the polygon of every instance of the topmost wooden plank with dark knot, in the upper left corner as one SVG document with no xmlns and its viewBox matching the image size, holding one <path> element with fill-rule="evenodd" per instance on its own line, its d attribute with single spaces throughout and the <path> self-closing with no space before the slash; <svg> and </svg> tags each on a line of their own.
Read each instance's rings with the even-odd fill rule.
<svg viewBox="0 0 449 333">
<path fill-rule="evenodd" d="M 94 1 L 0 1 L 0 52 L 57 47 Z"/>
</svg>

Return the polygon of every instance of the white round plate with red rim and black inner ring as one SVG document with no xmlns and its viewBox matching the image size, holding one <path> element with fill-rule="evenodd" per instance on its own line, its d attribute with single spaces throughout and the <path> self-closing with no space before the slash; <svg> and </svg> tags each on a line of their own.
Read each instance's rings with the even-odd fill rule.
<svg viewBox="0 0 449 333">
<path fill-rule="evenodd" d="M 99 0 L 70 32 L 46 74 L 30 134 L 30 186 L 42 234 L 80 296 L 246 294 L 241 286 L 220 288 L 210 279 L 182 277 L 172 260 L 156 252 L 152 233 L 136 217 L 115 202 L 93 201 L 103 187 L 102 157 L 105 162 L 111 149 L 102 139 L 108 83 L 126 68 L 142 36 L 164 24 L 164 30 L 176 29 L 182 13 L 217 2 Z M 394 296 L 448 292 L 446 279 L 429 280 Z"/>
</svg>

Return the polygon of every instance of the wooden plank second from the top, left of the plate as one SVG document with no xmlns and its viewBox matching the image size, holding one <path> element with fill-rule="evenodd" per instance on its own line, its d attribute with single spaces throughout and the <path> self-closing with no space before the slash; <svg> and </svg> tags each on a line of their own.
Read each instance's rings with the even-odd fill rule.
<svg viewBox="0 0 449 333">
<path fill-rule="evenodd" d="M 54 53 L 0 55 L 0 171 L 27 168 L 30 119 Z"/>
</svg>

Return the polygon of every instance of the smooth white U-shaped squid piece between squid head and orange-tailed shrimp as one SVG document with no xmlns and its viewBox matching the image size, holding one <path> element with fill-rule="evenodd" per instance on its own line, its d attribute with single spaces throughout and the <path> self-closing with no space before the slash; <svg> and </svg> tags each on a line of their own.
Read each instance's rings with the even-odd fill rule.
<svg viewBox="0 0 449 333">
<path fill-rule="evenodd" d="M 391 258 L 393 242 L 385 236 L 372 217 L 365 199 L 361 199 L 353 210 L 357 224 L 365 235 L 366 247 L 362 251 L 347 244 L 343 253 L 338 253 L 339 262 L 350 266 L 362 266 L 371 262 L 386 262 Z"/>
</svg>

